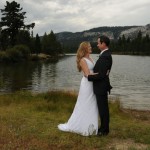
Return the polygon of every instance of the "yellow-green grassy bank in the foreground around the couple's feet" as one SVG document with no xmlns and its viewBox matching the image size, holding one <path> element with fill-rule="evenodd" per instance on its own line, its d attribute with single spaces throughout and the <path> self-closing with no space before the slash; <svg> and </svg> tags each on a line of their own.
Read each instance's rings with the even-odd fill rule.
<svg viewBox="0 0 150 150">
<path fill-rule="evenodd" d="M 73 92 L 0 95 L 1 150 L 150 150 L 150 112 L 110 105 L 110 134 L 83 137 L 61 132 L 76 102 Z"/>
</svg>

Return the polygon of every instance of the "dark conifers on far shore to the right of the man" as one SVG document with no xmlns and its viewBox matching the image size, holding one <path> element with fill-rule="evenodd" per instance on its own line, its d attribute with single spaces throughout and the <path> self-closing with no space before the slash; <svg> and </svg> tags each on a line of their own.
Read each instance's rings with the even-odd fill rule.
<svg viewBox="0 0 150 150">
<path fill-rule="evenodd" d="M 118 54 L 150 55 L 150 37 L 148 34 L 142 37 L 141 31 L 134 39 L 122 35 L 117 41 L 111 42 L 110 48 Z"/>
</svg>

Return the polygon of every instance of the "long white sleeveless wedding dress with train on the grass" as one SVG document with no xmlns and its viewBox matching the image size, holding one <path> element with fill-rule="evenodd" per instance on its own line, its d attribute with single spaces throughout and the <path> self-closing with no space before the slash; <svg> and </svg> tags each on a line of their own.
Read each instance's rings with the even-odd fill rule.
<svg viewBox="0 0 150 150">
<path fill-rule="evenodd" d="M 89 70 L 93 72 L 94 64 L 87 58 Z M 73 132 L 83 136 L 97 134 L 98 131 L 98 108 L 96 97 L 93 93 L 93 82 L 82 77 L 79 94 L 73 113 L 67 123 L 59 124 L 58 129 Z"/>
</svg>

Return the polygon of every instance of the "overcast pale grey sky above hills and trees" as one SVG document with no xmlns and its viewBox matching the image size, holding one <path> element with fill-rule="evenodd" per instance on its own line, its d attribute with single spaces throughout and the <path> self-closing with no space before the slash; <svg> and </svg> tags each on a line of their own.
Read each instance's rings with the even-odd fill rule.
<svg viewBox="0 0 150 150">
<path fill-rule="evenodd" d="M 11 2 L 12 0 L 8 0 Z M 80 32 L 101 26 L 150 23 L 150 0 L 15 0 L 26 12 L 25 24 L 35 23 L 34 35 Z M 6 5 L 0 0 L 0 9 Z M 0 12 L 0 18 L 1 18 Z"/>
</svg>

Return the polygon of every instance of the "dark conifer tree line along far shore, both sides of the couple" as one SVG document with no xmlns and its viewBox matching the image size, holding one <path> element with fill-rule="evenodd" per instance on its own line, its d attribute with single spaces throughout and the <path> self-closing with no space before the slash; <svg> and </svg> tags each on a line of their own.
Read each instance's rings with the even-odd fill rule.
<svg viewBox="0 0 150 150">
<path fill-rule="evenodd" d="M 98 37 L 97 37 L 98 38 Z M 83 40 L 89 41 L 84 38 Z M 63 43 L 63 42 L 62 42 Z M 76 53 L 81 39 L 75 41 L 64 41 L 64 51 L 66 53 Z M 97 48 L 97 42 L 91 42 L 93 53 L 99 53 Z M 112 53 L 116 54 L 129 54 L 129 55 L 150 55 L 150 37 L 148 34 L 142 36 L 142 32 L 139 31 L 135 38 L 125 37 L 122 35 L 118 39 L 113 39 L 110 42 L 110 49 Z"/>
</svg>

